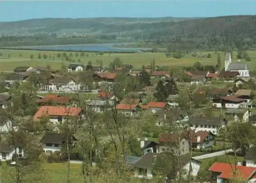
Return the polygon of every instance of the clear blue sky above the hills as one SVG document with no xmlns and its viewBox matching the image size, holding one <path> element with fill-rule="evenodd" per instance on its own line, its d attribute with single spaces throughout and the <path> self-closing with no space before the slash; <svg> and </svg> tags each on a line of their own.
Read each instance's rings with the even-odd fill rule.
<svg viewBox="0 0 256 183">
<path fill-rule="evenodd" d="M 256 14 L 256 0 L 0 0 L 0 21 L 50 17 L 213 17 L 251 14 Z"/>
</svg>

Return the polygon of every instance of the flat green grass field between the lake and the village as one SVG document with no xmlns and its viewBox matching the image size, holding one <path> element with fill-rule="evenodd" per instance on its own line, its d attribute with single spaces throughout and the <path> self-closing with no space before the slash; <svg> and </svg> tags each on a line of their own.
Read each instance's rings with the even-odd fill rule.
<svg viewBox="0 0 256 183">
<path fill-rule="evenodd" d="M 7 72 L 7 71 L 13 71 L 13 69 L 16 66 L 41 66 L 45 67 L 47 65 L 50 65 L 52 68 L 58 69 L 61 66 L 62 59 L 57 58 L 57 53 L 63 53 L 63 52 L 54 52 L 54 51 L 26 51 L 26 50 L 0 50 L 0 53 L 2 53 L 2 57 L 0 57 L 0 72 Z M 47 59 L 41 58 L 40 60 L 37 59 L 38 53 L 48 55 Z M 66 52 L 67 55 L 71 52 Z M 191 57 L 191 54 L 187 54 L 182 59 L 175 59 L 175 58 L 166 58 L 165 53 L 112 53 L 109 55 L 108 53 L 105 53 L 104 55 L 96 55 L 96 53 L 88 53 L 88 57 L 75 57 L 75 53 L 78 52 L 72 52 L 73 57 L 72 59 L 75 59 L 76 62 L 78 58 L 81 60 L 81 63 L 87 64 L 89 61 L 92 62 L 93 65 L 98 65 L 97 60 L 102 60 L 103 66 L 108 66 L 110 62 L 112 62 L 116 57 L 119 57 L 121 61 L 124 64 L 131 64 L 135 68 L 141 68 L 142 65 L 150 65 L 151 61 L 155 59 L 156 65 L 158 66 L 190 66 L 193 65 L 195 62 L 199 61 L 203 65 L 207 64 L 217 64 L 217 54 L 214 52 L 198 52 L 197 55 L 207 55 L 208 53 L 211 54 L 211 58 L 196 58 Z M 10 54 L 10 57 L 8 55 Z M 20 57 L 19 55 L 22 54 Z M 237 53 L 233 52 L 233 61 L 236 61 L 237 59 Z M 248 51 L 249 56 L 251 57 L 251 61 L 247 62 L 250 70 L 254 70 L 256 68 L 255 62 L 256 62 L 256 51 Z M 34 55 L 34 59 L 30 59 L 30 55 Z M 54 56 L 54 61 L 52 58 L 49 58 L 49 56 Z M 221 59 L 224 60 L 224 53 L 221 53 Z M 245 60 L 241 60 L 245 61 Z M 64 59 L 64 63 L 68 64 L 68 62 Z"/>
</svg>

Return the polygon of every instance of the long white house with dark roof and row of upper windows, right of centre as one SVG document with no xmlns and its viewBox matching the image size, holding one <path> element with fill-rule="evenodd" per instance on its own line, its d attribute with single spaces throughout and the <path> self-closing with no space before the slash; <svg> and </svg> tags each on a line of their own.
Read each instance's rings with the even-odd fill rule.
<svg viewBox="0 0 256 183">
<path fill-rule="evenodd" d="M 225 119 L 215 117 L 193 117 L 189 119 L 190 129 L 197 131 L 209 131 L 218 134 L 220 128 L 224 128 L 227 124 Z"/>
</svg>

